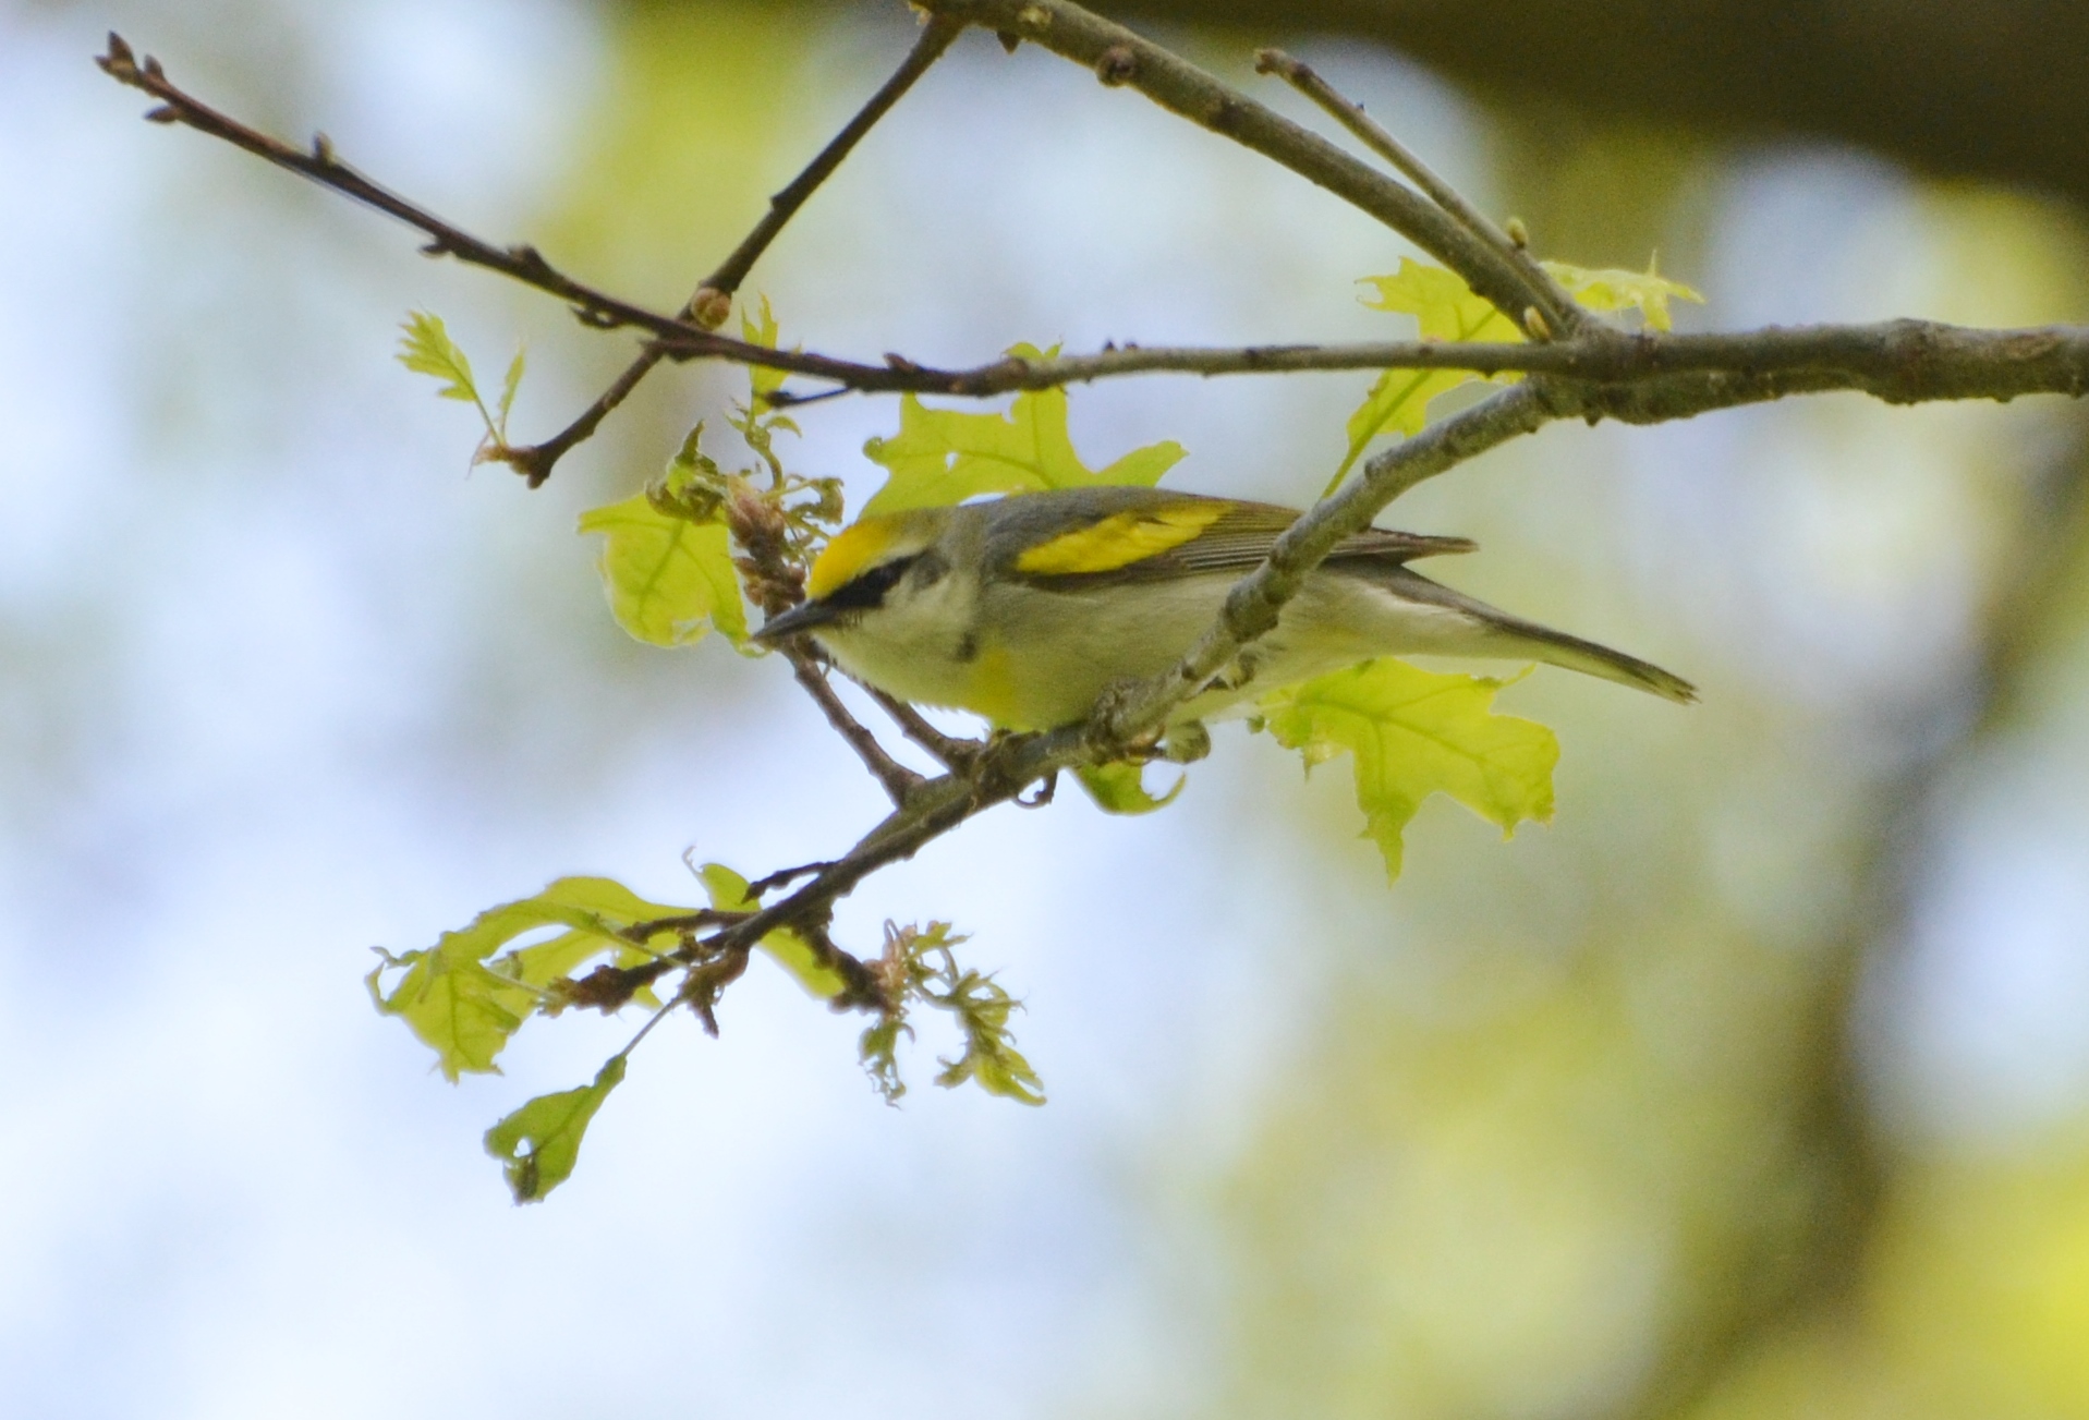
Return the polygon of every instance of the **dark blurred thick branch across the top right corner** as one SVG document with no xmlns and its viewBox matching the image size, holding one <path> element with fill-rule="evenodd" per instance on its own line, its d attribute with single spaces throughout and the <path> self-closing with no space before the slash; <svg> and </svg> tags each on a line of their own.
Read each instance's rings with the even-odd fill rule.
<svg viewBox="0 0 2089 1420">
<path fill-rule="evenodd" d="M 1343 33 L 1504 106 L 1872 148 L 1924 173 L 2089 203 L 2081 0 L 1103 0 L 1118 17 Z"/>
</svg>

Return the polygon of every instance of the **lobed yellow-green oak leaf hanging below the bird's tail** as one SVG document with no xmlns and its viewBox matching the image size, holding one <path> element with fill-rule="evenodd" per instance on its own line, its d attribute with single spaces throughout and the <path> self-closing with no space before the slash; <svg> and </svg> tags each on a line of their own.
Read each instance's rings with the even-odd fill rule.
<svg viewBox="0 0 2089 1420">
<path fill-rule="evenodd" d="M 1372 660 L 1272 691 L 1258 710 L 1264 729 L 1304 752 L 1308 771 L 1343 752 L 1356 758 L 1364 833 L 1398 879 L 1402 831 L 1431 794 L 1450 794 L 1504 837 L 1525 819 L 1552 819 L 1558 739 L 1535 720 L 1496 714 L 1504 685 Z"/>
</svg>

